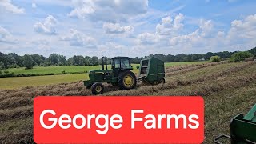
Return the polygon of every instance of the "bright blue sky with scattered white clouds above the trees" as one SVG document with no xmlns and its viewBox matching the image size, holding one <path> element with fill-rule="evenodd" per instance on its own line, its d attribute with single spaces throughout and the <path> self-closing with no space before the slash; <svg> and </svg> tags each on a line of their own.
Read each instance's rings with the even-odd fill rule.
<svg viewBox="0 0 256 144">
<path fill-rule="evenodd" d="M 256 46 L 255 0 L 0 0 L 0 51 L 142 57 Z"/>
</svg>

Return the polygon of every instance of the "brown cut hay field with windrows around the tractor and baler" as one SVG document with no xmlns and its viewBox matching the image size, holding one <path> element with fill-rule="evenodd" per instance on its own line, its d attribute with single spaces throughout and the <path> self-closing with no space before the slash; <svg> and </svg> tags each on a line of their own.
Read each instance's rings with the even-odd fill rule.
<svg viewBox="0 0 256 144">
<path fill-rule="evenodd" d="M 255 62 L 213 62 L 166 68 L 166 84 L 139 83 L 134 90 L 105 85 L 102 95 L 202 95 L 205 100 L 205 143 L 229 134 L 230 118 L 246 114 L 256 103 Z M 33 142 L 35 95 L 90 95 L 82 81 L 0 90 L 0 142 Z"/>
</svg>

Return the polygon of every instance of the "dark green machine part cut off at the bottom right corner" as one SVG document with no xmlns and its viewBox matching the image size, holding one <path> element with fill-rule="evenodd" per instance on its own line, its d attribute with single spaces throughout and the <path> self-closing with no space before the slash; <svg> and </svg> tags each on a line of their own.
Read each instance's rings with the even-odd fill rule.
<svg viewBox="0 0 256 144">
<path fill-rule="evenodd" d="M 230 138 L 231 144 L 255 144 L 256 143 L 256 104 L 245 115 L 238 114 L 231 119 L 230 136 L 219 135 L 214 142 L 221 144 L 219 139 Z"/>
</svg>

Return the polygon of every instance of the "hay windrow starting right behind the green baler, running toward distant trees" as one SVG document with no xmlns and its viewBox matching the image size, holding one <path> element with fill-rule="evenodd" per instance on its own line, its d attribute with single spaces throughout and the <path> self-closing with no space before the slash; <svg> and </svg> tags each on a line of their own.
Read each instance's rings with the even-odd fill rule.
<svg viewBox="0 0 256 144">
<path fill-rule="evenodd" d="M 186 69 L 167 72 L 166 76 L 170 77 L 170 76 L 174 76 L 174 75 L 177 75 L 177 74 L 184 74 L 184 73 L 187 73 L 187 72 L 190 72 L 190 71 L 193 71 L 193 70 L 202 69 L 202 68 L 205 68 L 205 67 L 208 67 L 208 66 L 217 66 L 217 65 L 220 65 L 220 64 L 224 64 L 224 63 L 227 63 L 227 62 L 211 62 L 211 63 L 202 64 L 202 65 L 199 65 L 199 66 L 192 66 L 192 67 L 188 67 Z"/>
</svg>

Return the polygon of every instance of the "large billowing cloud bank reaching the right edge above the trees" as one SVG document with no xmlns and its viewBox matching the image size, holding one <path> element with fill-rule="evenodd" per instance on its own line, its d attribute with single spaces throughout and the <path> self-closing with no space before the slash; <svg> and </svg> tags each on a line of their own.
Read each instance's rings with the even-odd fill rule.
<svg viewBox="0 0 256 144">
<path fill-rule="evenodd" d="M 199 28 L 190 34 L 170 38 L 172 47 L 198 53 L 223 50 L 247 50 L 256 46 L 256 14 L 234 20 L 230 30 L 215 30 L 211 20 L 201 20 Z"/>
</svg>

